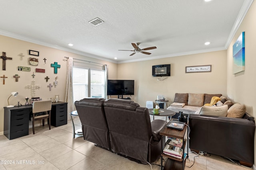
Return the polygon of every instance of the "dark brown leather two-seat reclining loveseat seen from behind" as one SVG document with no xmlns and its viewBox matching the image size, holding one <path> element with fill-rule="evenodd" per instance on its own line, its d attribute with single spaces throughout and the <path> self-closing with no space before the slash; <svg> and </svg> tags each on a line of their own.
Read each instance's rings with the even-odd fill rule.
<svg viewBox="0 0 256 170">
<path fill-rule="evenodd" d="M 75 106 L 85 140 L 140 163 L 161 155 L 159 132 L 167 122 L 150 122 L 147 108 L 130 100 L 97 98 L 76 101 Z"/>
</svg>

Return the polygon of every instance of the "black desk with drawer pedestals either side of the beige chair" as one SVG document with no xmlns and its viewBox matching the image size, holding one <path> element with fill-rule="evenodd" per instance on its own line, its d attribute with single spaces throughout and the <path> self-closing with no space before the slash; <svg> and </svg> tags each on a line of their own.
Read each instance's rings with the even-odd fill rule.
<svg viewBox="0 0 256 170">
<path fill-rule="evenodd" d="M 66 102 L 53 102 L 51 110 L 51 125 L 57 127 L 67 124 Z M 28 135 L 29 114 L 32 105 L 4 107 L 4 135 L 8 139 Z"/>
</svg>

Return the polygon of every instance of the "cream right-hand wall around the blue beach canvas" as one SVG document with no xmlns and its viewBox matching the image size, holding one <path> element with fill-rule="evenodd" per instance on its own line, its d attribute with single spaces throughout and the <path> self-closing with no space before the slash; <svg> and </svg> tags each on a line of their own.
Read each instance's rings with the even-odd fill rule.
<svg viewBox="0 0 256 170">
<path fill-rule="evenodd" d="M 246 112 L 256 117 L 256 2 L 247 12 L 242 24 L 227 49 L 227 94 L 234 102 L 244 104 Z M 232 74 L 233 45 L 239 35 L 245 31 L 245 71 Z M 256 137 L 256 135 L 254 135 Z M 255 141 L 255 138 L 254 138 Z M 254 142 L 255 143 L 255 142 Z M 256 162 L 256 145 L 254 145 L 254 165 Z M 254 166 L 254 169 L 256 167 Z"/>
</svg>

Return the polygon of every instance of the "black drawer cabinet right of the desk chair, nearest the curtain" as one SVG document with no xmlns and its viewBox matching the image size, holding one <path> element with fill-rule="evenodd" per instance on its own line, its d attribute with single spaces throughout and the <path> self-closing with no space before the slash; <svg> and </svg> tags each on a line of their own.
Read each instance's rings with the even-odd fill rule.
<svg viewBox="0 0 256 170">
<path fill-rule="evenodd" d="M 58 127 L 66 125 L 68 121 L 67 117 L 68 103 L 65 102 L 54 102 L 52 103 L 51 111 L 51 125 Z"/>
</svg>

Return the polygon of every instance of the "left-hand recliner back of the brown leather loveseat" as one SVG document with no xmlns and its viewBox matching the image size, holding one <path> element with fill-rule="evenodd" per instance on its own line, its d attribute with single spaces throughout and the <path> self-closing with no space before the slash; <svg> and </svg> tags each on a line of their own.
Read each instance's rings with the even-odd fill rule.
<svg viewBox="0 0 256 170">
<path fill-rule="evenodd" d="M 84 98 L 75 102 L 82 123 L 84 139 L 109 149 L 108 125 L 103 109 L 104 99 Z"/>
</svg>

